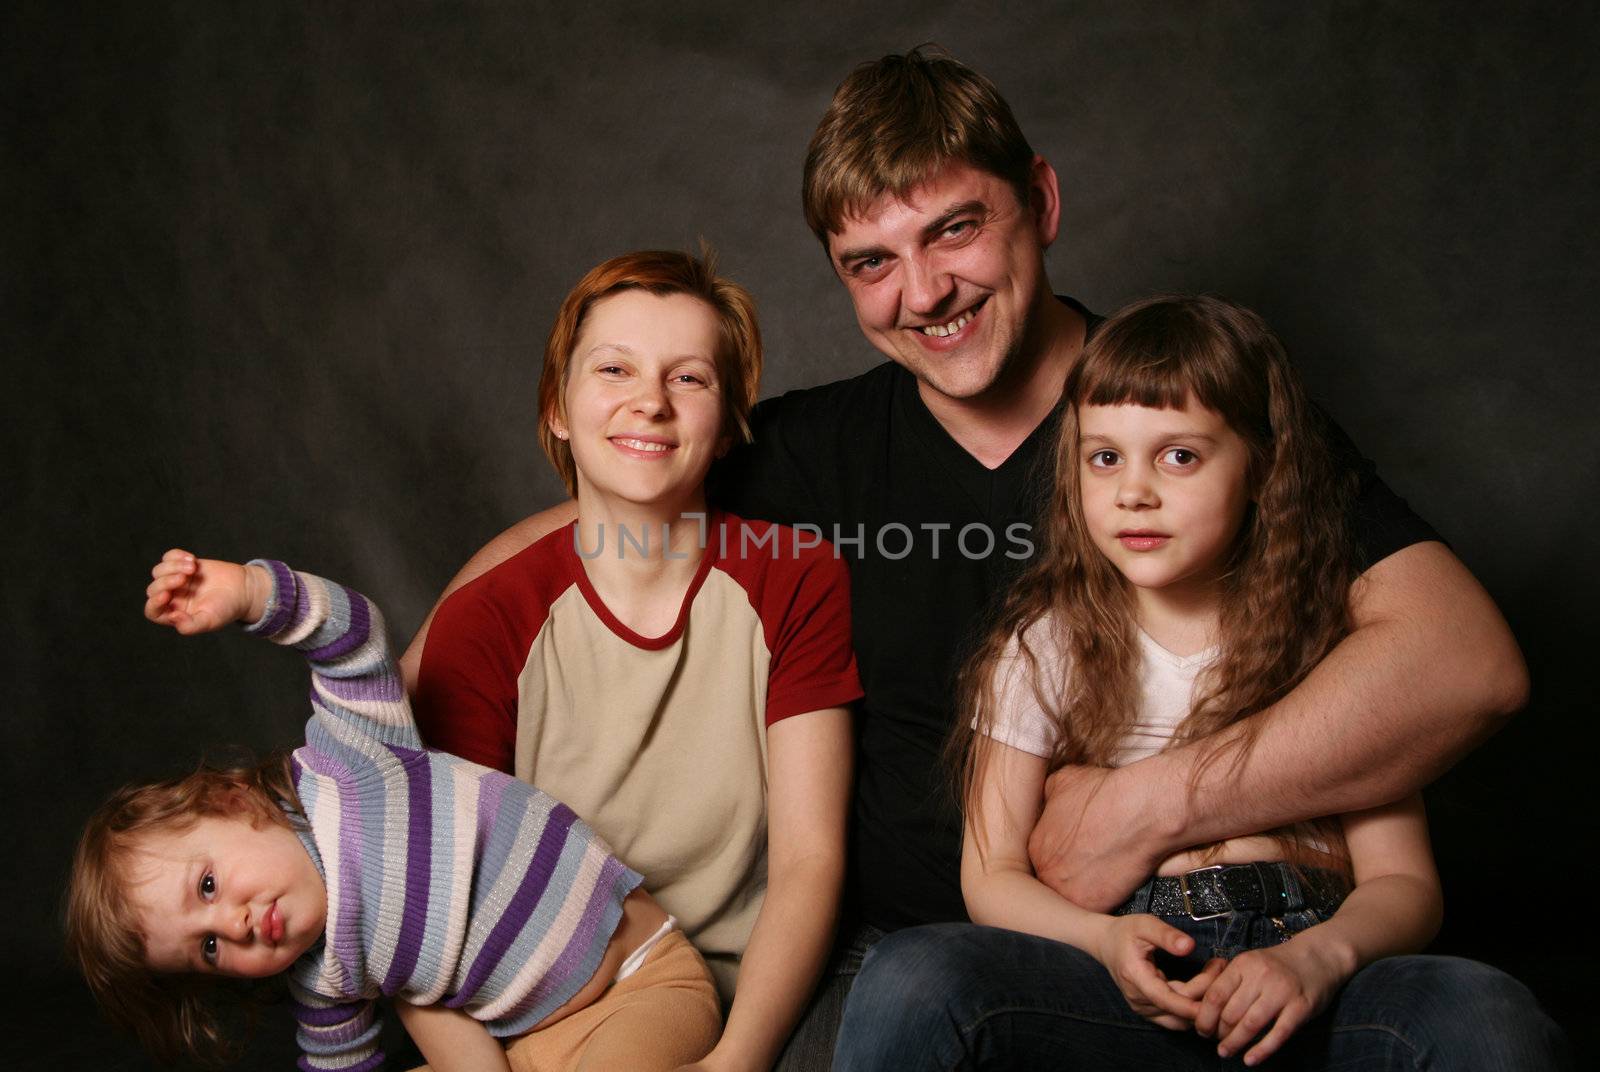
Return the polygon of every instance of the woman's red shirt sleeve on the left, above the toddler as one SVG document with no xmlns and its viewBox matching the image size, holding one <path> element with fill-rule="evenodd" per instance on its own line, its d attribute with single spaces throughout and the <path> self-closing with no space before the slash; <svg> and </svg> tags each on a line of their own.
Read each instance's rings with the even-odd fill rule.
<svg viewBox="0 0 1600 1072">
<path fill-rule="evenodd" d="M 522 584 L 520 558 L 443 602 L 427 630 L 413 698 L 427 747 L 507 774 L 517 746 L 517 678 L 549 606 Z"/>
</svg>

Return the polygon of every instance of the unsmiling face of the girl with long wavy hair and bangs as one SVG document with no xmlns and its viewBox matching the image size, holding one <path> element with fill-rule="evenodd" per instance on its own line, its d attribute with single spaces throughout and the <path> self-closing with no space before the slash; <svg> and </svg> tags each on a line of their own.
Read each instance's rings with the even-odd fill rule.
<svg viewBox="0 0 1600 1072">
<path fill-rule="evenodd" d="M 1194 395 L 1181 410 L 1082 406 L 1078 480 L 1094 546 L 1128 581 L 1206 594 L 1250 506 L 1250 448 Z"/>
</svg>

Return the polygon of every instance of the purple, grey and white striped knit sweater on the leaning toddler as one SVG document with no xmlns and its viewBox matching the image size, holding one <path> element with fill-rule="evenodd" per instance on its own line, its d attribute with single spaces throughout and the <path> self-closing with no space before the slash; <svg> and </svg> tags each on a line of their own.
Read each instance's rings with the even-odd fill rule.
<svg viewBox="0 0 1600 1072">
<path fill-rule="evenodd" d="M 312 667 L 293 771 L 328 922 L 288 971 L 299 1067 L 381 1067 L 381 995 L 462 1008 L 498 1037 L 530 1030 L 594 976 L 640 875 L 552 797 L 422 747 L 363 595 L 256 565 L 274 594 L 246 632 Z"/>
</svg>

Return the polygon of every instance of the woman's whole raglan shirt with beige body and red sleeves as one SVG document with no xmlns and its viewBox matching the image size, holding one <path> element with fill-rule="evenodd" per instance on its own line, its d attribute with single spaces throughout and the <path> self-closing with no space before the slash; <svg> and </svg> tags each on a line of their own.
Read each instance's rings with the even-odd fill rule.
<svg viewBox="0 0 1600 1072">
<path fill-rule="evenodd" d="M 571 806 L 645 875 L 726 998 L 766 888 L 766 728 L 850 704 L 861 682 L 832 546 L 718 512 L 704 536 L 661 637 L 605 606 L 576 526 L 462 586 L 429 629 L 416 714 L 430 747 Z"/>
</svg>

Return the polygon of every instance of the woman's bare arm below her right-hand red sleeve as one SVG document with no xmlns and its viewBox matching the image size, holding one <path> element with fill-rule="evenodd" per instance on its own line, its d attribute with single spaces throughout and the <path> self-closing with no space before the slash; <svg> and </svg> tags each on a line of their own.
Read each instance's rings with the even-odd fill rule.
<svg viewBox="0 0 1600 1072">
<path fill-rule="evenodd" d="M 843 707 L 766 731 L 766 899 L 717 1048 L 696 1067 L 770 1069 L 800 1019 L 838 918 L 853 736 Z"/>
</svg>

